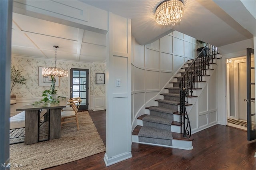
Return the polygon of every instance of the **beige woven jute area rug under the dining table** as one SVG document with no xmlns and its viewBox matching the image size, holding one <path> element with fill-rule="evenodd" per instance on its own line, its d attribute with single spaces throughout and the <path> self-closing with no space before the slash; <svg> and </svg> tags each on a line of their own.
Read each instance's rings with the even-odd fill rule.
<svg viewBox="0 0 256 170">
<path fill-rule="evenodd" d="M 59 139 L 10 145 L 11 165 L 22 165 L 17 167 L 19 170 L 40 170 L 104 152 L 105 146 L 89 113 L 79 112 L 78 120 L 79 130 L 76 123 L 63 124 Z"/>
</svg>

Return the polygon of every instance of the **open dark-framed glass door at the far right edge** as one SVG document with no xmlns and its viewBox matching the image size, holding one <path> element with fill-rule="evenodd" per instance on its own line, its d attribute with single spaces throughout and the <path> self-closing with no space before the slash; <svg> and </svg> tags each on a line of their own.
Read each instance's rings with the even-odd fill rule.
<svg viewBox="0 0 256 170">
<path fill-rule="evenodd" d="M 254 50 L 247 48 L 247 140 L 255 139 L 255 77 Z M 252 126 L 254 125 L 254 126 Z"/>
</svg>

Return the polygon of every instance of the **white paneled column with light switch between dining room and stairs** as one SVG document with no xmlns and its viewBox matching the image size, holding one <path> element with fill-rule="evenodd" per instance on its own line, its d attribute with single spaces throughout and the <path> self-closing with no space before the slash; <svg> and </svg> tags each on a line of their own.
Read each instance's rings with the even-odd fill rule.
<svg viewBox="0 0 256 170">
<path fill-rule="evenodd" d="M 109 13 L 106 60 L 106 154 L 110 166 L 131 154 L 131 20 Z M 120 83 L 118 84 L 117 81 Z"/>
</svg>

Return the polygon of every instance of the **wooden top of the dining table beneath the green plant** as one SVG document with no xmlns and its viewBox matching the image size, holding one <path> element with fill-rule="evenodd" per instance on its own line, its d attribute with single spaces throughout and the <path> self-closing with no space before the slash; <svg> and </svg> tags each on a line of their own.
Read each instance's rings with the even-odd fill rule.
<svg viewBox="0 0 256 170">
<path fill-rule="evenodd" d="M 63 108 L 66 107 L 67 102 L 68 102 L 68 98 L 60 98 L 58 99 L 58 101 L 60 101 L 60 103 L 52 103 L 52 104 L 48 104 L 48 105 L 43 105 L 42 103 L 40 103 L 39 105 L 32 105 L 32 103 L 28 104 L 28 105 L 24 105 L 18 109 L 16 109 L 16 111 L 33 111 L 33 110 L 40 110 L 40 109 L 58 109 L 58 108 Z"/>
</svg>

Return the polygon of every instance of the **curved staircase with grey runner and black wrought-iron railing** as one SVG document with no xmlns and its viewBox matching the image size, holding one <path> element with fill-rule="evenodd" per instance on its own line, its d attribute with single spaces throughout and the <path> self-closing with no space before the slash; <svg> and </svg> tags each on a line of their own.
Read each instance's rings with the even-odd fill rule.
<svg viewBox="0 0 256 170">
<path fill-rule="evenodd" d="M 148 111 L 137 117 L 137 126 L 132 132 L 132 142 L 181 148 L 193 148 L 187 109 L 191 109 L 190 99 L 197 100 L 197 91 L 202 91 L 210 73 L 214 70 L 217 50 L 212 45 L 204 47 L 196 59 L 188 60 L 174 81 L 156 100 L 158 106 L 146 107 Z M 210 49 L 210 50 L 209 50 Z M 217 52 L 216 52 L 217 51 Z M 214 54 L 214 55 L 213 55 Z M 199 94 L 199 93 L 198 93 Z"/>
</svg>

